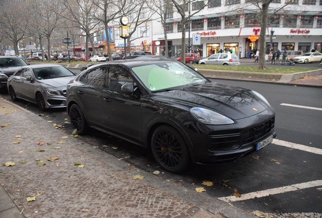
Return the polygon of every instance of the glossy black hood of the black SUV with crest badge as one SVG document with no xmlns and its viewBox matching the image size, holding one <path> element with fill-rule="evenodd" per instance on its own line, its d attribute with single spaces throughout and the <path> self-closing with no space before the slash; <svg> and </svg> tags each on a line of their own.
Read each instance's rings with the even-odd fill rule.
<svg viewBox="0 0 322 218">
<path fill-rule="evenodd" d="M 259 114 L 269 107 L 251 90 L 220 83 L 207 83 L 157 92 L 153 93 L 153 97 L 190 107 L 208 108 L 233 120 Z"/>
</svg>

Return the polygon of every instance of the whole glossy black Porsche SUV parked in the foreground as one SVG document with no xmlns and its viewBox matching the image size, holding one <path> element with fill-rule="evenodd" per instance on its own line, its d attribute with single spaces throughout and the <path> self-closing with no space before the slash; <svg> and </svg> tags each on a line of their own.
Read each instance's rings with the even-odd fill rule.
<svg viewBox="0 0 322 218">
<path fill-rule="evenodd" d="M 233 163 L 276 135 L 274 109 L 261 94 L 211 82 L 170 59 L 88 67 L 67 85 L 67 113 L 78 134 L 93 127 L 150 148 L 172 173 L 190 160 Z"/>
</svg>

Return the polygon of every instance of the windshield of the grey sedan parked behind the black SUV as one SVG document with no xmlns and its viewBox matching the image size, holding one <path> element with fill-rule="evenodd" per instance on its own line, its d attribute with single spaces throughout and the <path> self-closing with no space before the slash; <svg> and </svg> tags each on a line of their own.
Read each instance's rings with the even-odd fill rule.
<svg viewBox="0 0 322 218">
<path fill-rule="evenodd" d="M 36 68 L 33 69 L 33 73 L 38 80 L 75 76 L 71 71 L 62 66 Z"/>
</svg>

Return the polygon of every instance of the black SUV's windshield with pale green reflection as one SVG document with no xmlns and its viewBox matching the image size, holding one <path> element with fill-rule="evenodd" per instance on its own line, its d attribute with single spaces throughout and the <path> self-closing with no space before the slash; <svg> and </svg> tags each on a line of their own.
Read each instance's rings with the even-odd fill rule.
<svg viewBox="0 0 322 218">
<path fill-rule="evenodd" d="M 132 70 L 151 91 L 208 82 L 191 68 L 176 62 L 147 63 Z"/>
</svg>

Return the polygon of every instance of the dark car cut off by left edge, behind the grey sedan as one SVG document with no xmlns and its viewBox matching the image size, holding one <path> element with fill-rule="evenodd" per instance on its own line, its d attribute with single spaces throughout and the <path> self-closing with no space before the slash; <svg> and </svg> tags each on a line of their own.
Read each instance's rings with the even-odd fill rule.
<svg viewBox="0 0 322 218">
<path fill-rule="evenodd" d="M 17 56 L 0 56 L 0 88 L 7 88 L 7 81 L 19 68 L 28 64 Z"/>
</svg>

